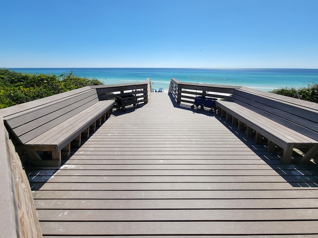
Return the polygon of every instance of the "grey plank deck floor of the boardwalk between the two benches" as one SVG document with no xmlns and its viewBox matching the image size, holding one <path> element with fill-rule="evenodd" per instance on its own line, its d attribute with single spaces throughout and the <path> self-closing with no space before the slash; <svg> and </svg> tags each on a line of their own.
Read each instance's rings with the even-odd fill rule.
<svg viewBox="0 0 318 238">
<path fill-rule="evenodd" d="M 317 237 L 316 166 L 283 166 L 167 93 L 114 112 L 73 153 L 29 172 L 45 238 Z"/>
</svg>

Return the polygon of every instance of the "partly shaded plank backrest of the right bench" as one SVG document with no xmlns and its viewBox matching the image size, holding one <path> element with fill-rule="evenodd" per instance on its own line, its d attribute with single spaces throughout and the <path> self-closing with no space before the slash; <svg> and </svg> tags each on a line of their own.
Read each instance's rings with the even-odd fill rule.
<svg viewBox="0 0 318 238">
<path fill-rule="evenodd" d="M 242 87 L 232 101 L 318 140 L 318 104 Z"/>
</svg>

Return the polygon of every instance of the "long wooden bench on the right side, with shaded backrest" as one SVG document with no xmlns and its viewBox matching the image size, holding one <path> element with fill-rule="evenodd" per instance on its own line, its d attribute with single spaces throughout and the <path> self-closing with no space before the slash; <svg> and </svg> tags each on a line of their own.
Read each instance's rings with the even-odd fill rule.
<svg viewBox="0 0 318 238">
<path fill-rule="evenodd" d="M 283 149 L 282 163 L 291 164 L 293 151 L 307 164 L 318 153 L 318 104 L 245 87 L 236 89 L 230 101 L 217 101 L 219 113 L 255 134 L 256 143 L 267 139 L 267 150 Z"/>
</svg>

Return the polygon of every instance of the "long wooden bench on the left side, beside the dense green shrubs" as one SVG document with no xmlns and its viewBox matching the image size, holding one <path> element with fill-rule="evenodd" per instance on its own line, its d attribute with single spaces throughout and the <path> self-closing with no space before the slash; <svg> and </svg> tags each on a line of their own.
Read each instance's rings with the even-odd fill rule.
<svg viewBox="0 0 318 238">
<path fill-rule="evenodd" d="M 110 116 L 114 104 L 99 101 L 96 89 L 84 87 L 27 103 L 3 119 L 36 166 L 58 167 L 71 146 L 79 147 Z"/>
</svg>

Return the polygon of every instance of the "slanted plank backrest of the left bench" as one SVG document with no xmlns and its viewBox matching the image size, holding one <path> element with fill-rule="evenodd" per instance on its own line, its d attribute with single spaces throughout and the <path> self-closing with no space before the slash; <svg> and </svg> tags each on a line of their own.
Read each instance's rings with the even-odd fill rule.
<svg viewBox="0 0 318 238">
<path fill-rule="evenodd" d="M 22 144 L 95 104 L 98 96 L 96 89 L 85 87 L 36 101 L 43 104 L 34 103 L 36 106 L 4 118 Z"/>
</svg>

